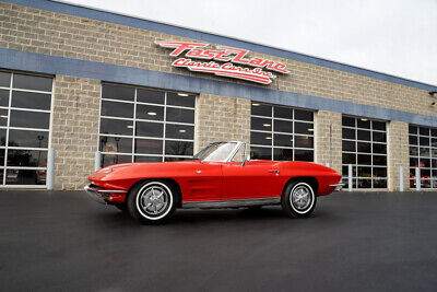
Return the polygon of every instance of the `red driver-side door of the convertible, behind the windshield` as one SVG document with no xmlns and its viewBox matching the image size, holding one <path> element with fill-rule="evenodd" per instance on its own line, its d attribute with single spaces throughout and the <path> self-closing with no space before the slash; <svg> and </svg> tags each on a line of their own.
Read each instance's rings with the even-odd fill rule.
<svg viewBox="0 0 437 292">
<path fill-rule="evenodd" d="M 223 163 L 223 199 L 279 197 L 282 192 L 279 163 L 249 161 Z"/>
</svg>

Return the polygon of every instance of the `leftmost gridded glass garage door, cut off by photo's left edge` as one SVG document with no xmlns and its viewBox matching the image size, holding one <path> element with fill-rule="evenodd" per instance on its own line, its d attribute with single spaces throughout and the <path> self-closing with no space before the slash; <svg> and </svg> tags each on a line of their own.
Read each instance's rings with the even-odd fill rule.
<svg viewBox="0 0 437 292">
<path fill-rule="evenodd" d="M 45 186 L 52 79 L 0 71 L 0 185 Z"/>
</svg>

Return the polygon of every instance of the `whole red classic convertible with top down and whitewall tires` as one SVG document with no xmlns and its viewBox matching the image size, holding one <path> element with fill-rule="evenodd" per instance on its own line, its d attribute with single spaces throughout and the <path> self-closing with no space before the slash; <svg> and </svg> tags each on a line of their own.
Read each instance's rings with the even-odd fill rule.
<svg viewBox="0 0 437 292">
<path fill-rule="evenodd" d="M 259 208 L 282 205 L 308 217 L 317 196 L 341 187 L 334 170 L 309 162 L 250 161 L 246 143 L 216 142 L 192 161 L 127 163 L 102 168 L 85 187 L 93 199 L 143 222 L 167 219 L 176 208 Z"/>
</svg>

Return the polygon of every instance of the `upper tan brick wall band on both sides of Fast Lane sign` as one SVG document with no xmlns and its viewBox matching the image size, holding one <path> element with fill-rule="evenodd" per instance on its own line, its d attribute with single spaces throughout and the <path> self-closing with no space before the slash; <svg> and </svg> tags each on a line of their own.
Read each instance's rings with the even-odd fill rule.
<svg viewBox="0 0 437 292">
<path fill-rule="evenodd" d="M 194 40 L 0 3 L 0 47 L 228 80 L 170 67 L 169 50 L 155 46 L 156 39 Z M 269 85 L 271 89 L 437 116 L 429 106 L 432 97 L 423 90 L 257 52 L 251 55 L 285 62 L 291 70 L 288 75 L 280 75 Z"/>
</svg>

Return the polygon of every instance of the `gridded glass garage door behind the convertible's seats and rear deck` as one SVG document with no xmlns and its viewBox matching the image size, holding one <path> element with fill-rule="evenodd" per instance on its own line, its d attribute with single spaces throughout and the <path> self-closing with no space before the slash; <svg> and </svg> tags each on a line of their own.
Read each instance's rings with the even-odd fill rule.
<svg viewBox="0 0 437 292">
<path fill-rule="evenodd" d="M 314 161 L 314 113 L 252 102 L 252 160 Z"/>
</svg>

